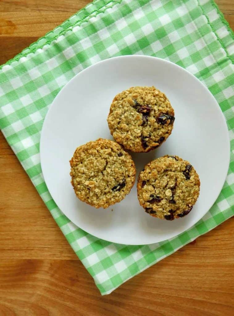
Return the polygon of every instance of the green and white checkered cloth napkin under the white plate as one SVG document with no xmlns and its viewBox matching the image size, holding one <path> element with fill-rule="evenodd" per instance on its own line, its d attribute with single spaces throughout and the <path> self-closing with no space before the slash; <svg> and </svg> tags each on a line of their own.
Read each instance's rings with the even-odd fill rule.
<svg viewBox="0 0 234 316">
<path fill-rule="evenodd" d="M 233 215 L 233 53 L 233 33 L 210 0 L 96 0 L 0 68 L 1 130 L 102 295 Z M 210 211 L 153 245 L 113 244 L 75 226 L 52 200 L 40 167 L 42 124 L 61 88 L 84 68 L 127 54 L 164 58 L 199 78 L 218 101 L 231 141 L 228 176 Z"/>
</svg>

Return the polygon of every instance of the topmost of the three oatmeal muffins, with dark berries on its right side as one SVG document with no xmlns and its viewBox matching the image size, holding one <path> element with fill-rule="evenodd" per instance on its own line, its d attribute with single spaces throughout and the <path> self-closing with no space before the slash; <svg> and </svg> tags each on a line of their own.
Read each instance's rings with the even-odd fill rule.
<svg viewBox="0 0 234 316">
<path fill-rule="evenodd" d="M 134 152 L 148 152 L 170 135 L 174 110 L 155 87 L 132 87 L 117 94 L 110 107 L 108 126 L 117 143 Z"/>
</svg>

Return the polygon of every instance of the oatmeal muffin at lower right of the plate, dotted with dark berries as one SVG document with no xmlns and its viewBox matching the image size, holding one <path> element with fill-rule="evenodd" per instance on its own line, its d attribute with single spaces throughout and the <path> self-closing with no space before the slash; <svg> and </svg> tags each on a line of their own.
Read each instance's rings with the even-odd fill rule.
<svg viewBox="0 0 234 316">
<path fill-rule="evenodd" d="M 194 167 L 178 156 L 160 157 L 139 174 L 137 195 L 151 216 L 172 221 L 187 215 L 199 196 L 200 180 Z"/>
</svg>

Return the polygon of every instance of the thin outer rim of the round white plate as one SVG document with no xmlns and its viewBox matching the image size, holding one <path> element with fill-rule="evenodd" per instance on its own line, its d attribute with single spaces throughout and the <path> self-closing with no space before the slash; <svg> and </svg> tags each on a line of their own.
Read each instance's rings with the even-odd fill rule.
<svg viewBox="0 0 234 316">
<path fill-rule="evenodd" d="M 225 173 L 224 173 L 224 175 L 223 175 L 223 179 L 222 179 L 222 181 L 220 182 L 220 185 L 219 185 L 219 190 L 218 190 L 219 193 L 218 193 L 218 195 L 217 195 L 216 197 L 214 197 L 214 198 L 212 199 L 212 203 L 211 203 L 211 205 L 208 207 L 206 213 L 203 214 L 196 222 L 192 223 L 188 228 L 185 228 L 184 230 L 182 230 L 181 233 L 175 234 L 175 235 L 173 235 L 173 236 L 171 236 L 171 237 L 169 237 L 169 238 L 165 238 L 165 239 L 162 239 L 162 240 L 160 240 L 160 241 L 152 241 L 152 242 L 150 242 L 150 243 L 147 243 L 147 245 L 151 245 L 151 244 L 154 244 L 154 243 L 158 243 L 158 242 L 162 242 L 162 241 L 165 241 L 165 240 L 168 240 L 168 239 L 173 239 L 173 238 L 178 237 L 180 234 L 183 234 L 185 231 L 191 229 L 191 227 L 193 227 L 197 222 L 199 222 L 199 221 L 203 218 L 203 216 L 205 216 L 205 215 L 207 214 L 207 212 L 211 209 L 212 205 L 213 205 L 213 204 L 215 203 L 215 201 L 217 200 L 217 198 L 218 198 L 218 196 L 219 196 L 219 194 L 220 194 L 220 192 L 221 192 L 221 190 L 222 190 L 222 188 L 223 188 L 223 186 L 224 186 L 225 179 L 226 179 L 226 176 L 227 176 L 227 173 L 228 173 L 228 169 L 229 169 L 229 165 L 230 165 L 230 139 L 229 139 L 229 132 L 228 132 L 228 127 L 227 127 L 227 123 L 226 123 L 226 120 L 225 120 L 225 116 L 224 116 L 224 114 L 223 114 L 223 112 L 222 112 L 222 110 L 221 110 L 221 108 L 220 108 L 220 106 L 219 106 L 219 103 L 217 102 L 217 100 L 215 99 L 215 97 L 213 96 L 213 94 L 210 92 L 210 90 L 205 86 L 205 84 L 204 84 L 203 82 L 201 82 L 201 81 L 200 81 L 196 76 L 194 76 L 191 72 L 189 72 L 188 70 L 184 69 L 183 67 L 181 67 L 181 66 L 179 66 L 179 65 L 177 65 L 177 64 L 175 64 L 175 63 L 173 63 L 173 62 L 171 62 L 171 61 L 169 61 L 169 60 L 166 60 L 166 59 L 163 59 L 163 58 L 154 57 L 154 56 L 137 55 L 137 54 L 135 54 L 135 55 L 115 56 L 115 57 L 107 58 L 107 59 L 101 60 L 101 61 L 99 61 L 99 62 L 97 62 L 97 63 L 95 63 L 95 64 L 93 64 L 93 65 L 90 65 L 90 66 L 86 67 L 85 69 L 83 69 L 82 71 L 80 71 L 78 74 L 76 74 L 73 78 L 71 78 L 71 80 L 69 80 L 69 81 L 61 88 L 61 90 L 59 91 L 59 93 L 58 93 L 58 94 L 56 95 L 56 97 L 53 99 L 53 101 L 52 101 L 52 103 L 51 103 L 51 105 L 50 105 L 50 107 L 49 107 L 49 109 L 48 109 L 48 111 L 47 111 L 47 113 L 46 113 L 46 116 L 45 116 L 44 121 L 43 121 L 42 129 L 41 129 L 41 134 L 40 134 L 40 145 L 39 145 L 39 150 L 40 150 L 40 165 L 41 165 L 42 175 L 43 175 L 44 181 L 45 181 L 45 183 L 46 183 L 46 179 L 47 179 L 48 177 L 45 177 L 45 169 L 44 169 L 44 166 L 45 166 L 45 165 L 44 165 L 44 162 L 45 162 L 45 160 L 44 160 L 44 162 L 43 162 L 43 158 L 42 158 L 42 156 L 43 156 L 43 154 L 42 154 L 42 153 L 43 153 L 43 149 L 42 149 L 42 148 L 43 148 L 43 145 L 42 145 L 42 144 L 43 144 L 43 140 L 44 140 L 44 138 L 45 138 L 46 119 L 48 119 L 48 114 L 49 114 L 49 112 L 51 111 L 53 105 L 55 104 L 57 98 L 59 98 L 59 96 L 60 96 L 60 94 L 62 93 L 63 89 L 67 88 L 67 86 L 68 86 L 69 84 L 71 84 L 71 82 L 72 82 L 73 80 L 77 80 L 77 77 L 78 77 L 78 76 L 81 76 L 84 72 L 89 71 L 90 68 L 93 68 L 93 67 L 95 67 L 95 66 L 97 66 L 97 65 L 99 65 L 99 64 L 107 63 L 107 62 L 109 62 L 110 60 L 113 60 L 113 59 L 127 59 L 127 58 L 142 58 L 142 59 L 151 59 L 151 60 L 154 59 L 154 60 L 158 60 L 159 62 L 169 63 L 169 64 L 172 64 L 173 67 L 179 68 L 180 70 L 185 71 L 189 76 L 193 77 L 193 79 L 195 79 L 200 85 L 203 86 L 203 88 L 206 89 L 206 92 L 208 92 L 208 94 L 210 95 L 210 97 L 213 98 L 213 100 L 215 101 L 214 103 L 215 103 L 215 105 L 216 105 L 216 108 L 217 108 L 217 110 L 219 111 L 219 113 L 221 114 L 223 123 L 224 123 L 224 125 L 225 125 L 226 140 L 228 141 L 228 148 L 227 148 L 227 149 L 228 149 L 229 155 L 227 154 L 226 161 L 223 162 L 223 163 L 226 165 L 226 171 L 225 171 Z M 52 196 L 52 194 L 51 194 L 51 192 L 50 192 L 50 190 L 49 190 L 49 188 L 48 188 L 48 186 L 47 186 L 47 183 L 46 183 L 46 187 L 47 187 L 47 189 L 48 189 L 48 191 L 49 191 L 49 193 L 50 193 L 52 199 L 54 200 L 54 198 L 53 198 L 53 196 Z M 55 200 L 54 200 L 54 202 L 56 203 Z M 57 203 L 56 203 L 56 205 L 57 205 Z M 57 206 L 58 206 L 58 205 L 57 205 Z M 58 208 L 59 208 L 59 206 L 58 206 Z M 60 208 L 59 208 L 59 210 L 60 210 L 72 223 L 74 223 L 74 222 L 70 219 L 70 217 L 67 216 Z M 74 223 L 74 224 L 75 224 L 75 223 Z M 75 224 L 75 225 L 78 226 L 77 224 Z M 78 226 L 78 227 L 79 227 L 79 226 Z M 80 228 L 80 227 L 79 227 L 79 228 Z M 83 229 L 83 228 L 81 228 L 81 229 Z M 83 229 L 83 230 L 84 230 L 84 229 Z M 85 231 L 85 230 L 84 230 L 84 231 Z M 87 232 L 87 231 L 86 231 L 86 232 Z M 89 232 L 87 232 L 87 233 L 88 233 L 88 234 L 91 234 L 91 233 L 89 233 Z M 120 242 L 118 242 L 118 241 L 116 241 L 116 240 L 113 240 L 112 238 L 108 238 L 108 239 L 107 239 L 107 238 L 102 238 L 102 237 L 96 236 L 95 234 L 91 234 L 91 235 L 93 235 L 93 236 L 95 236 L 95 237 L 97 237 L 97 238 L 100 238 L 100 239 L 102 239 L 102 240 L 106 240 L 106 241 L 108 241 L 108 242 L 120 243 Z M 121 242 L 121 244 L 123 244 L 123 245 L 145 245 L 145 244 L 139 244 L 139 242 L 134 243 L 134 241 L 132 241 L 131 243 L 124 243 L 124 242 Z"/>
</svg>

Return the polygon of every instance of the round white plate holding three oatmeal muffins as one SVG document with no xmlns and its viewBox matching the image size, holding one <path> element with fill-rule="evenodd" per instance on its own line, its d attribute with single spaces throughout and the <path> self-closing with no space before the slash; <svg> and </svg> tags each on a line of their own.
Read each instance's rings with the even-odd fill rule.
<svg viewBox="0 0 234 316">
<path fill-rule="evenodd" d="M 75 149 L 99 137 L 113 139 L 107 116 L 114 96 L 132 86 L 152 85 L 168 96 L 175 110 L 174 129 L 158 149 L 132 154 L 136 176 L 146 163 L 169 154 L 190 161 L 201 182 L 193 210 L 171 222 L 145 213 L 137 199 L 136 184 L 120 203 L 96 210 L 77 199 L 70 183 L 69 160 Z M 40 139 L 42 172 L 60 210 L 86 232 L 128 245 L 174 237 L 200 220 L 222 189 L 229 154 L 225 119 L 208 89 L 173 63 L 138 55 L 110 58 L 75 76 L 53 101 Z"/>
</svg>

